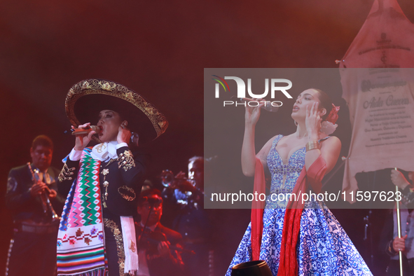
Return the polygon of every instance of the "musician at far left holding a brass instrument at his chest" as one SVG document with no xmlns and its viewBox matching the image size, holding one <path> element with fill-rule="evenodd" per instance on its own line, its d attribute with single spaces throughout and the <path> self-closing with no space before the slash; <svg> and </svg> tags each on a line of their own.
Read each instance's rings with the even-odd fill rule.
<svg viewBox="0 0 414 276">
<path fill-rule="evenodd" d="M 32 163 L 15 167 L 8 174 L 6 207 L 13 215 L 14 237 L 6 275 L 53 276 L 59 227 L 59 219 L 53 217 L 53 212 L 62 213 L 64 198 L 57 193 L 60 171 L 50 167 L 52 140 L 45 135 L 36 137 L 30 156 Z M 51 207 L 41 199 L 42 193 L 48 195 Z"/>
</svg>

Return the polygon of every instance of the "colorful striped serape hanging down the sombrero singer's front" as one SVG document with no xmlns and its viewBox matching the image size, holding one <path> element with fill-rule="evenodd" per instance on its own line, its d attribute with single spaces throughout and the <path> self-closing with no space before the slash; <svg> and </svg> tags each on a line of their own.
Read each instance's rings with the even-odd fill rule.
<svg viewBox="0 0 414 276">
<path fill-rule="evenodd" d="M 104 227 L 99 160 L 83 150 L 78 177 L 64 204 L 57 234 L 58 275 L 104 275 Z"/>
</svg>

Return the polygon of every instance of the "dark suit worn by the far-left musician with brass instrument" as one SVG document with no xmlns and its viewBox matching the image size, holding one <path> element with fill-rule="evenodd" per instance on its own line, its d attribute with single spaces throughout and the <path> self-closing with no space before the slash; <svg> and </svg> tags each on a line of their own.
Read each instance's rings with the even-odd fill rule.
<svg viewBox="0 0 414 276">
<path fill-rule="evenodd" d="M 32 165 L 32 168 L 35 167 Z M 50 175 L 50 189 L 57 191 L 57 174 L 53 167 Z M 8 275 L 55 275 L 57 223 L 51 223 L 50 214 L 43 213 L 39 196 L 30 194 L 34 180 L 28 165 L 13 168 L 8 174 L 6 207 L 11 210 L 15 221 L 15 233 L 11 242 L 8 260 Z M 55 212 L 60 215 L 64 197 L 50 199 Z M 40 227 L 39 227 L 40 226 Z"/>
</svg>

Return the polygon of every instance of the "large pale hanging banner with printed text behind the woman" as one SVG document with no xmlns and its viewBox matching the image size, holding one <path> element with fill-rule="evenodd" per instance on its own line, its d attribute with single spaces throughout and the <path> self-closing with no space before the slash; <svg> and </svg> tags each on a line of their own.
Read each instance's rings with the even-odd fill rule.
<svg viewBox="0 0 414 276">
<path fill-rule="evenodd" d="M 413 50 L 414 25 L 396 0 L 375 0 L 340 62 L 352 124 L 344 191 L 357 191 L 358 172 L 414 171 Z"/>
</svg>

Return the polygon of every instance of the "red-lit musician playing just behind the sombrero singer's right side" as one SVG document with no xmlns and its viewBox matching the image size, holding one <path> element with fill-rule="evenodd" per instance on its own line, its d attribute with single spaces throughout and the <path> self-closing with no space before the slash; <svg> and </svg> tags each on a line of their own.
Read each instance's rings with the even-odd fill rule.
<svg viewBox="0 0 414 276">
<path fill-rule="evenodd" d="M 139 195 L 137 211 L 141 216 L 140 221 L 135 222 L 138 276 L 181 276 L 184 269 L 179 252 L 182 237 L 160 223 L 163 215 L 161 192 L 157 189 L 143 191 Z"/>
</svg>

